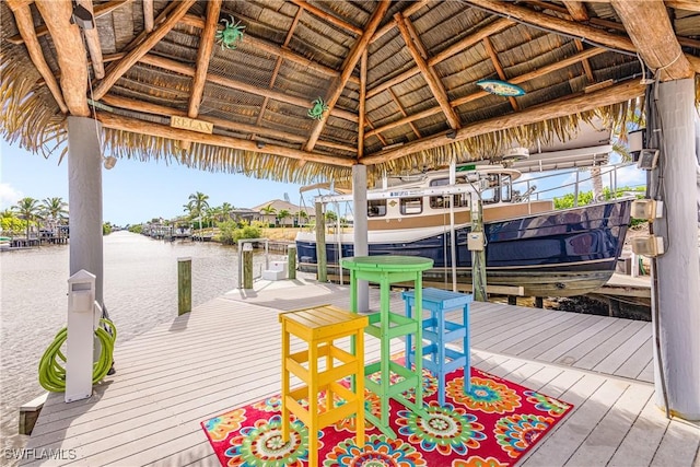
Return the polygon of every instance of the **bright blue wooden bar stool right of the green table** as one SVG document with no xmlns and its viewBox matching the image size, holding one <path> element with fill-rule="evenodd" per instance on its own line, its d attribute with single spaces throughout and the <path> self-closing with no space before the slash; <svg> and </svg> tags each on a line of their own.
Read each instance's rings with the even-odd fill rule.
<svg viewBox="0 0 700 467">
<path fill-rule="evenodd" d="M 472 301 L 470 293 L 451 292 L 447 290 L 427 288 L 422 291 L 422 310 L 430 311 L 430 318 L 423 319 L 423 339 L 430 341 L 423 343 L 423 367 L 430 370 L 438 377 L 438 401 L 445 405 L 445 375 L 456 369 L 464 371 L 464 393 L 470 390 L 469 361 L 469 303 Z M 406 316 L 411 317 L 412 310 L 422 314 L 420 306 L 416 306 L 413 291 L 401 294 L 406 302 Z M 453 310 L 462 308 L 462 324 L 448 322 L 445 314 Z M 462 339 L 462 351 L 448 349 L 448 342 Z M 416 358 L 411 335 L 406 337 L 406 365 L 411 366 Z"/>
</svg>

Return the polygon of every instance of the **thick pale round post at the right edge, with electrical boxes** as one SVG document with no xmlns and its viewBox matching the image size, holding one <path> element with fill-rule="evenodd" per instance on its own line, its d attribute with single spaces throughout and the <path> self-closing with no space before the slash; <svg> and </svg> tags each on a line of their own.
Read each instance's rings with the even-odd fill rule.
<svg viewBox="0 0 700 467">
<path fill-rule="evenodd" d="M 658 359 L 663 363 L 668 409 L 687 420 L 700 420 L 700 261 L 695 194 L 695 80 L 658 84 L 656 103 L 662 143 L 658 174 L 652 176 L 653 196 L 664 201 L 664 215 L 654 222 L 654 235 L 664 237 L 666 253 L 656 258 L 652 303 L 658 307 L 661 353 L 654 352 L 656 404 L 664 407 Z M 649 126 L 649 124 L 648 124 Z M 658 171 L 657 170 L 657 171 Z M 655 295 L 655 296 L 654 296 Z M 652 317 L 655 319 L 654 313 Z"/>
</svg>

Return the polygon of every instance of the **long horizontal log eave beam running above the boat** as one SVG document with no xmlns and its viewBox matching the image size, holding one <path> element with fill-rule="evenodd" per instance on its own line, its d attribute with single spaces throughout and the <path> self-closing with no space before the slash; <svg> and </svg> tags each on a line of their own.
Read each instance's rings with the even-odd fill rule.
<svg viewBox="0 0 700 467">
<path fill-rule="evenodd" d="M 408 154 L 439 148 L 455 141 L 463 141 L 468 138 L 490 133 L 492 131 L 516 128 L 523 125 L 530 125 L 552 118 L 565 117 L 576 113 L 594 110 L 603 106 L 639 97 L 644 94 L 645 89 L 646 86 L 641 84 L 639 80 L 629 80 L 593 93 L 580 93 L 573 97 L 557 101 L 556 103 L 546 103 L 536 107 L 526 108 L 515 114 L 501 115 L 488 120 L 474 122 L 457 130 L 455 139 L 447 138 L 445 133 L 423 138 L 420 141 L 410 142 L 397 149 L 382 151 L 381 154 L 368 155 L 362 157 L 360 163 L 365 165 L 383 164 L 404 157 Z"/>
</svg>

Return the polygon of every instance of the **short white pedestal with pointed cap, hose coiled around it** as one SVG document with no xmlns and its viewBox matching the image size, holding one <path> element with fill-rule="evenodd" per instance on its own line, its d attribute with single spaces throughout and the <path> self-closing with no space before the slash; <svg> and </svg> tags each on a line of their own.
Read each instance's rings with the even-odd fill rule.
<svg viewBox="0 0 700 467">
<path fill-rule="evenodd" d="M 68 279 L 66 402 L 92 396 L 95 276 L 81 269 Z"/>
</svg>

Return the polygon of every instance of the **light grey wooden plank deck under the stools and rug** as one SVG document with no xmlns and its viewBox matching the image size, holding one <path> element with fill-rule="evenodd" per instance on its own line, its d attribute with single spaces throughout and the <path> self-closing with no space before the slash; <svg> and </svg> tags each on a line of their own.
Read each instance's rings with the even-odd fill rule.
<svg viewBox="0 0 700 467">
<path fill-rule="evenodd" d="M 376 310 L 377 290 L 370 300 Z M 260 281 L 124 342 L 92 398 L 49 395 L 27 448 L 74 454 L 42 465 L 215 466 L 199 422 L 278 394 L 278 313 L 325 303 L 348 307 L 348 288 Z M 698 423 L 654 404 L 650 323 L 490 303 L 470 322 L 475 366 L 575 405 L 522 465 L 700 465 Z"/>
</svg>

